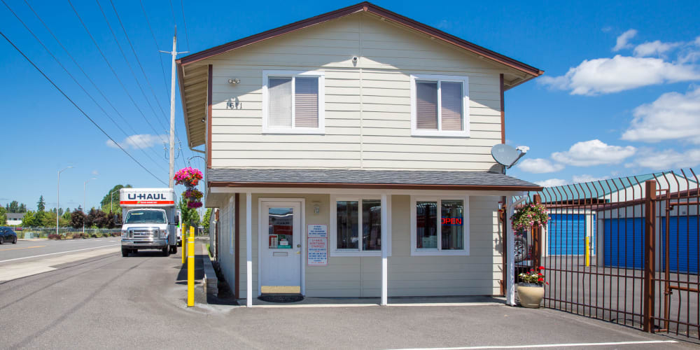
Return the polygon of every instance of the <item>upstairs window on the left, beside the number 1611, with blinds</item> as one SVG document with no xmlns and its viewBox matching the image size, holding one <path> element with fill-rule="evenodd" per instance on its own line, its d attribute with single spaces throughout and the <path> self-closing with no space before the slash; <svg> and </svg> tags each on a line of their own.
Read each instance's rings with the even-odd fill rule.
<svg viewBox="0 0 700 350">
<path fill-rule="evenodd" d="M 263 71 L 262 132 L 323 134 L 323 72 Z"/>
</svg>

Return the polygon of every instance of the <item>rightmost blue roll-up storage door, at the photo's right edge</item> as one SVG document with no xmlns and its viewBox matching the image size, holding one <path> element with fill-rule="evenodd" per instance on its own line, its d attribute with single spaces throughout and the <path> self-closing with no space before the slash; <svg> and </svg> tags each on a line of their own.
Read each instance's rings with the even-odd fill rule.
<svg viewBox="0 0 700 350">
<path fill-rule="evenodd" d="M 661 265 L 666 265 L 666 218 L 661 220 Z M 668 265 L 671 272 L 698 273 L 698 216 L 668 218 Z"/>
</svg>

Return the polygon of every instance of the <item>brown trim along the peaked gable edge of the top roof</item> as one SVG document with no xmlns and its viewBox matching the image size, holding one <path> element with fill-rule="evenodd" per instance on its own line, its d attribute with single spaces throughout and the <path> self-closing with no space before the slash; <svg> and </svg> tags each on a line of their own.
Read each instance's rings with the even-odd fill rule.
<svg viewBox="0 0 700 350">
<path fill-rule="evenodd" d="M 258 43 L 260 41 L 264 41 L 268 38 L 274 38 L 276 36 L 280 36 L 283 34 L 290 33 L 292 31 L 297 31 L 300 29 L 304 29 L 307 27 L 311 27 L 314 25 L 318 25 L 323 22 L 328 22 L 330 20 L 335 20 L 337 18 L 342 18 L 346 15 L 351 15 L 353 13 L 358 13 L 358 12 L 367 12 L 367 13 L 372 13 L 374 15 L 377 15 L 381 18 L 385 18 L 386 20 L 391 20 L 393 22 L 397 22 L 401 25 L 405 25 L 406 27 L 409 27 L 411 29 L 414 29 L 416 31 L 420 31 L 423 34 L 426 34 L 428 36 L 432 36 L 434 38 L 440 39 L 444 42 L 450 43 L 452 45 L 455 45 L 459 48 L 463 48 L 464 50 L 468 50 L 470 52 L 473 52 L 477 55 L 484 56 L 486 58 L 492 59 L 493 61 L 499 62 L 500 64 L 505 64 L 506 66 L 510 66 L 513 69 L 517 69 L 518 71 L 522 71 L 524 73 L 528 73 L 531 76 L 540 76 L 544 71 L 537 69 L 533 66 L 530 66 L 528 64 L 525 64 L 523 62 L 519 62 L 516 59 L 512 59 L 510 57 L 501 55 L 498 52 L 491 51 L 487 48 L 483 48 L 482 46 L 476 45 L 475 43 L 470 43 L 469 41 L 465 41 L 462 38 L 458 38 L 454 35 L 447 34 L 444 31 L 441 31 L 440 29 L 430 27 L 429 25 L 424 25 L 421 22 L 417 22 L 415 20 L 412 20 L 410 18 L 407 18 L 405 16 L 399 15 L 398 13 L 393 13 L 390 10 L 386 10 L 385 8 L 381 8 L 377 5 L 374 5 L 373 3 L 369 2 L 362 2 L 358 3 L 356 5 L 348 6 L 346 8 L 340 8 L 339 10 L 331 11 L 329 13 L 323 13 L 322 15 L 317 15 L 311 18 L 307 18 L 306 20 L 300 20 L 298 22 L 290 23 L 289 25 L 284 25 L 282 27 L 278 27 L 275 29 L 270 29 L 268 31 L 263 31 L 262 33 L 259 34 L 254 34 L 251 36 L 248 36 L 246 38 L 241 38 L 237 41 L 232 41 L 230 43 L 225 43 L 223 45 L 218 45 L 215 46 L 214 48 L 209 48 L 204 51 L 196 52 L 193 53 L 192 55 L 188 55 L 186 57 L 182 57 L 177 60 L 178 64 L 181 64 L 183 66 L 186 66 L 188 64 L 192 64 L 198 61 L 201 61 L 202 59 L 207 59 L 209 57 L 219 55 L 224 52 L 228 52 L 230 50 L 235 50 L 237 48 L 241 48 L 242 46 L 245 45 L 250 45 L 252 43 Z"/>
</svg>

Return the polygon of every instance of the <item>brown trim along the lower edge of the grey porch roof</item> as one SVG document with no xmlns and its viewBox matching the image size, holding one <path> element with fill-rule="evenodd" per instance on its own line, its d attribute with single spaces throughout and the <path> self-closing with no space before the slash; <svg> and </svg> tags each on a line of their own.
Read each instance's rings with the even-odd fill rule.
<svg viewBox="0 0 700 350">
<path fill-rule="evenodd" d="M 470 190 L 470 191 L 541 191 L 541 186 L 418 185 L 404 183 L 325 183 L 325 182 L 223 182 L 209 181 L 209 187 L 226 188 L 361 188 L 376 190 Z"/>
</svg>

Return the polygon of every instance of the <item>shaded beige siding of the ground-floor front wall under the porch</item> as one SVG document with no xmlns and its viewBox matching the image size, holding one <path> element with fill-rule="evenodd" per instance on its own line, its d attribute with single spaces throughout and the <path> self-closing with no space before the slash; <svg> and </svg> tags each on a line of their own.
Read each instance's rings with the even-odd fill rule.
<svg viewBox="0 0 700 350">
<path fill-rule="evenodd" d="M 304 198 L 307 225 L 330 228 L 330 195 L 253 194 L 253 297 L 258 293 L 258 202 L 260 198 Z M 470 255 L 412 256 L 410 241 L 410 196 L 391 196 L 392 244 L 388 258 L 389 296 L 498 295 L 502 277 L 498 200 L 494 196 L 470 196 Z M 228 202 L 227 202 L 228 203 Z M 240 280 L 241 296 L 246 290 L 246 196 L 241 194 Z M 321 207 L 314 214 L 314 204 Z M 227 210 L 225 207 L 223 211 Z M 225 227 L 222 219 L 222 227 Z M 304 228 L 304 234 L 306 228 Z M 223 230 L 225 232 L 225 230 Z M 331 235 L 333 232 L 328 232 Z M 223 233 L 225 235 L 225 233 Z M 330 239 L 329 239 L 330 241 Z M 222 239 L 222 247 L 225 240 Z M 332 247 L 329 247 L 332 248 Z M 222 269 L 233 274 L 233 262 L 222 249 Z M 305 256 L 304 259 L 305 265 Z M 306 295 L 309 297 L 379 297 L 381 258 L 328 257 L 328 266 L 305 266 Z"/>
</svg>

